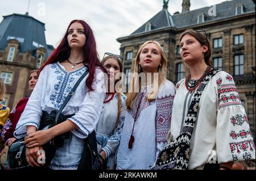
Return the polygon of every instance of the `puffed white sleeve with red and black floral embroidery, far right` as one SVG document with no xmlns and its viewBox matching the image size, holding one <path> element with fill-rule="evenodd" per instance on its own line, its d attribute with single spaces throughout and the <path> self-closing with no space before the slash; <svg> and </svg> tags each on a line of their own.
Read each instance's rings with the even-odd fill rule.
<svg viewBox="0 0 256 181">
<path fill-rule="evenodd" d="M 255 145 L 249 120 L 241 105 L 233 78 L 221 71 L 216 83 L 218 112 L 216 147 L 218 163 L 229 161 L 255 161 Z"/>
</svg>

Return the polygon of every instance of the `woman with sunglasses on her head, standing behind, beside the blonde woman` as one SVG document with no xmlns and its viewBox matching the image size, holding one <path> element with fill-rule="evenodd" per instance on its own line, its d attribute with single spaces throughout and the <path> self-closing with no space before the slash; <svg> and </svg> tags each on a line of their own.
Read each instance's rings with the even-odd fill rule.
<svg viewBox="0 0 256 181">
<path fill-rule="evenodd" d="M 125 100 L 122 93 L 122 62 L 118 55 L 110 55 L 101 61 L 108 72 L 108 93 L 104 99 L 100 121 L 96 128 L 98 150 L 103 158 L 109 158 L 108 169 L 115 169 L 116 153 L 121 139 L 123 121 L 125 120 Z M 118 85 L 117 85 L 118 83 Z M 116 87 L 116 89 L 115 89 Z"/>
</svg>

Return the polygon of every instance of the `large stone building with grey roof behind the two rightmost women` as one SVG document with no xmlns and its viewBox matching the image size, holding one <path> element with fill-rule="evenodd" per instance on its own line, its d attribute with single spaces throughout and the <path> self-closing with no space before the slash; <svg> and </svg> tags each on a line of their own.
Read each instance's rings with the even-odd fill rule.
<svg viewBox="0 0 256 181">
<path fill-rule="evenodd" d="M 119 37 L 124 73 L 133 70 L 139 47 L 148 40 L 162 46 L 168 60 L 170 81 L 176 83 L 188 75 L 179 54 L 179 37 L 188 28 L 204 30 L 210 40 L 214 68 L 231 74 L 255 135 L 255 1 L 225 1 L 212 7 L 190 11 L 183 0 L 182 12 L 163 9 L 129 36 Z M 129 81 L 126 80 L 126 84 Z M 254 137 L 255 138 L 255 137 Z M 255 140 L 255 139 L 254 139 Z"/>
</svg>

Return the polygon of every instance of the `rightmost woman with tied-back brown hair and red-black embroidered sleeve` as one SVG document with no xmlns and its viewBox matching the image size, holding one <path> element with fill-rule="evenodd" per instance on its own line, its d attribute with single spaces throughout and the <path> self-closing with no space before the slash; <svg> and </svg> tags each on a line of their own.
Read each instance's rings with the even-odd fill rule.
<svg viewBox="0 0 256 181">
<path fill-rule="evenodd" d="M 168 134 L 170 141 L 182 131 L 184 115 L 187 115 L 193 95 L 212 69 L 210 44 L 205 33 L 186 30 L 180 36 L 180 48 L 189 75 L 176 84 Z M 234 161 L 255 159 L 255 146 L 245 109 L 232 76 L 225 71 L 217 71 L 205 86 L 195 120 L 188 169 L 232 169 Z M 221 166 L 209 164 L 214 161 Z"/>
</svg>

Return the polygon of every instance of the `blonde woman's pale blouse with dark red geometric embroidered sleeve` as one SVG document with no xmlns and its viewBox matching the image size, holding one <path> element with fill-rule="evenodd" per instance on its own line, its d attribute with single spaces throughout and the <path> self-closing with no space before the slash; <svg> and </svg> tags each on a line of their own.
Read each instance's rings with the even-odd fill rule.
<svg viewBox="0 0 256 181">
<path fill-rule="evenodd" d="M 172 101 L 175 86 L 165 81 L 159 88 L 158 98 L 146 100 L 151 85 L 142 87 L 131 110 L 126 111 L 125 123 L 117 154 L 117 169 L 150 169 L 156 156 L 167 143 L 166 136 L 171 124 Z M 140 106 L 139 106 L 140 104 Z M 137 121 L 134 119 L 137 117 Z M 134 124 L 134 130 L 133 130 Z M 128 148 L 131 133 L 134 142 Z"/>
</svg>

